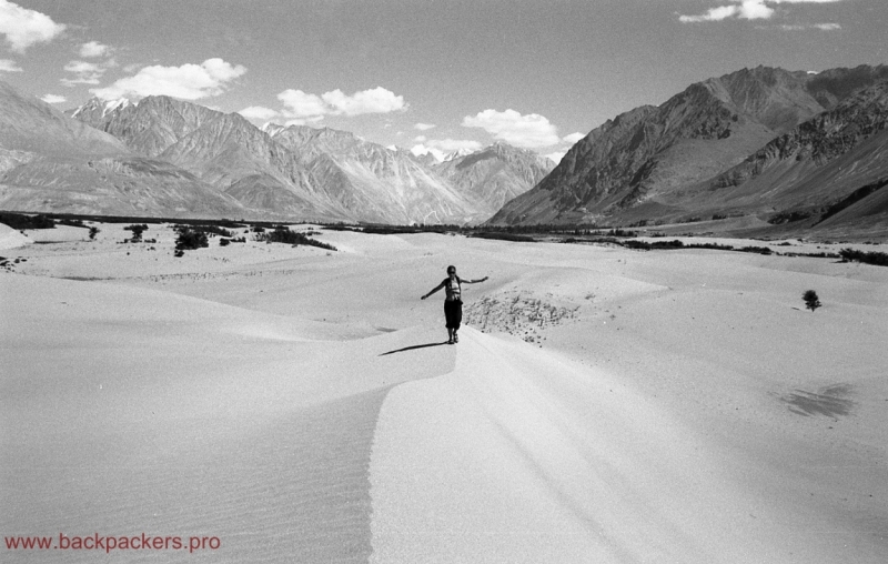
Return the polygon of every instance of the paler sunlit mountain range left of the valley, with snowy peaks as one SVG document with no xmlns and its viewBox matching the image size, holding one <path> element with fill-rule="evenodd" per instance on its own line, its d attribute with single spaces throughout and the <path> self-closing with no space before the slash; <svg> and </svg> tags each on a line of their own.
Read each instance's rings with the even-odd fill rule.
<svg viewBox="0 0 888 564">
<path fill-rule="evenodd" d="M 0 124 L 21 124 L 0 129 L 0 205 L 19 211 L 465 224 L 490 218 L 554 167 L 496 145 L 498 170 L 485 157 L 484 172 L 467 180 L 467 167 L 438 169 L 350 132 L 256 128 L 168 97 L 93 99 L 65 115 L 8 84 L 0 95 Z"/>
</svg>

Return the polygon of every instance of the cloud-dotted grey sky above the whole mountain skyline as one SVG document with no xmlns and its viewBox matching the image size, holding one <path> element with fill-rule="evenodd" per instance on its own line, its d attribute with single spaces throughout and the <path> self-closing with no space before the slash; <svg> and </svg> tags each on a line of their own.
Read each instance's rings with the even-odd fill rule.
<svg viewBox="0 0 888 564">
<path fill-rule="evenodd" d="M 888 0 L 0 0 L 0 80 L 557 161 L 689 84 L 888 63 Z"/>
</svg>

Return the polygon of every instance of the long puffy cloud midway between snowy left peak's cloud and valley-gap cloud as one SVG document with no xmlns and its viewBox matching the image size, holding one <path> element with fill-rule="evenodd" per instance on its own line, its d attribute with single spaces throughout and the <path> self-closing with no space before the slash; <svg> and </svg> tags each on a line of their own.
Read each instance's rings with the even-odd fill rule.
<svg viewBox="0 0 888 564">
<path fill-rule="evenodd" d="M 284 104 L 283 114 L 297 121 L 317 121 L 324 115 L 362 115 L 365 113 L 390 113 L 406 109 L 404 97 L 391 90 L 376 87 L 345 94 L 342 90 L 331 90 L 321 95 L 302 90 L 284 90 L 278 94 Z"/>
</svg>

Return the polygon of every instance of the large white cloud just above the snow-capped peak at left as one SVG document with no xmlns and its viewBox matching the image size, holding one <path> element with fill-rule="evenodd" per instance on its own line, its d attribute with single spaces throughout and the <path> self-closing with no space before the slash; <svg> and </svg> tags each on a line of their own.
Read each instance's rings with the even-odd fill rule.
<svg viewBox="0 0 888 564">
<path fill-rule="evenodd" d="M 182 100 L 199 100 L 219 95 L 228 83 L 243 75 L 246 68 L 231 64 L 222 59 L 206 59 L 200 64 L 143 67 L 132 77 L 118 80 L 107 88 L 91 89 L 94 95 L 105 100 L 147 95 L 170 95 Z"/>
</svg>

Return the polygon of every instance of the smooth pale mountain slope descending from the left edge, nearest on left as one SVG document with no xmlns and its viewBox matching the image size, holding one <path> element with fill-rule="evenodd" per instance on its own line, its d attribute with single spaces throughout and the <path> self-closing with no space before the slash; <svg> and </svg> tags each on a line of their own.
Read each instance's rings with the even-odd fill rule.
<svg viewBox="0 0 888 564">
<path fill-rule="evenodd" d="M 0 81 L 0 208 L 240 216 L 236 200 Z"/>
</svg>

